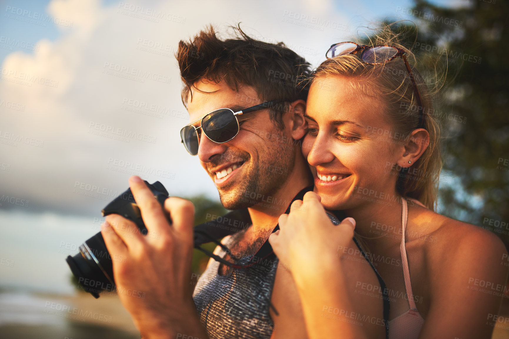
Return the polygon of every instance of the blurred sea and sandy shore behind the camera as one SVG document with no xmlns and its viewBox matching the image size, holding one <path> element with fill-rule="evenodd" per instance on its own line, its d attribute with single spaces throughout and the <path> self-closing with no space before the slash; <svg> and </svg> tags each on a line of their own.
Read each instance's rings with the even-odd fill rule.
<svg viewBox="0 0 509 339">
<path fill-rule="evenodd" d="M 118 298 L 77 292 L 65 258 L 101 218 L 0 210 L 0 338 L 139 338 Z"/>
</svg>

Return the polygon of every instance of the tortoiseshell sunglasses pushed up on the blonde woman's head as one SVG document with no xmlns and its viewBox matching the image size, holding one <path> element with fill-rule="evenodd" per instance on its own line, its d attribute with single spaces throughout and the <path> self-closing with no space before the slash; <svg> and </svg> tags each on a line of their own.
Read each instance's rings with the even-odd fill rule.
<svg viewBox="0 0 509 339">
<path fill-rule="evenodd" d="M 401 56 L 405 62 L 405 67 L 407 69 L 408 75 L 410 76 L 410 80 L 412 81 L 415 98 L 417 99 L 417 104 L 419 105 L 419 107 L 417 107 L 417 114 L 419 116 L 418 126 L 419 128 L 423 128 L 424 111 L 422 107 L 422 100 L 420 98 L 419 89 L 417 88 L 417 83 L 415 82 L 414 75 L 410 69 L 410 65 L 408 64 L 407 57 L 405 56 L 405 51 L 401 48 L 389 45 L 367 46 L 358 45 L 355 42 L 347 41 L 331 45 L 325 54 L 325 57 L 327 59 L 332 59 L 336 56 L 356 54 L 359 51 L 361 51 L 360 55 L 358 55 L 359 58 L 363 61 L 363 63 L 368 65 L 385 64 L 388 61 Z"/>
</svg>

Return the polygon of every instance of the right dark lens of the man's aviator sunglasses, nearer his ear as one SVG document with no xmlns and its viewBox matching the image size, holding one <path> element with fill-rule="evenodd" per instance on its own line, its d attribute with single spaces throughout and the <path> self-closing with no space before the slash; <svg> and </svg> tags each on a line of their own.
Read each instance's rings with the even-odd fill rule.
<svg viewBox="0 0 509 339">
<path fill-rule="evenodd" d="M 227 142 L 239 133 L 239 124 L 233 111 L 218 109 L 207 114 L 202 120 L 202 130 L 214 142 Z"/>
</svg>

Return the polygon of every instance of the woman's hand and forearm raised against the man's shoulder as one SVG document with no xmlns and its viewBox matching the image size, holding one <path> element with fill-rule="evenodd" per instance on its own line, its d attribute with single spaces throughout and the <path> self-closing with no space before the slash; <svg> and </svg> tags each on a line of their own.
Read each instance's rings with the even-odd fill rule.
<svg viewBox="0 0 509 339">
<path fill-rule="evenodd" d="M 340 255 L 352 242 L 355 220 L 347 218 L 335 226 L 320 200 L 316 193 L 307 192 L 302 200 L 294 201 L 290 214 L 279 217 L 280 229 L 271 234 L 269 242 L 279 260 L 291 267 L 310 339 L 338 337 L 338 333 L 345 339 L 366 338 L 364 328 L 352 324 L 348 315 L 353 312 L 346 311 L 356 309 Z M 324 317 L 329 307 L 342 313 Z"/>
</svg>

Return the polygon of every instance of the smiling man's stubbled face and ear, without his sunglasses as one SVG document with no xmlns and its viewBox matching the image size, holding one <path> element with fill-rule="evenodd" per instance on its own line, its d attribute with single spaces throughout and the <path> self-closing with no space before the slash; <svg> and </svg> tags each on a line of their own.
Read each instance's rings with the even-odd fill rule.
<svg viewBox="0 0 509 339">
<path fill-rule="evenodd" d="M 236 92 L 224 82 L 216 84 L 198 81 L 192 90 L 192 100 L 188 98 L 187 110 L 190 120 L 195 121 L 219 108 L 227 107 L 238 111 L 261 103 L 256 91 L 249 86 L 244 86 Z M 303 124 L 304 108 L 305 103 L 302 100 L 292 103 L 291 111 L 301 112 L 300 119 L 295 120 L 299 117 L 298 114 L 285 114 L 284 122 L 287 128 L 284 131 L 272 125 L 268 109 L 264 109 L 239 115 L 240 131 L 228 142 L 215 143 L 201 134 L 197 157 L 214 181 L 225 207 L 234 209 L 250 206 L 247 200 L 252 199 L 246 199 L 246 191 L 248 195 L 257 190 L 258 193 L 265 195 L 273 192 L 271 195 L 276 198 L 287 194 L 293 197 L 306 184 L 311 184 L 299 147 L 281 142 L 283 137 L 286 138 L 284 140 L 289 140 L 299 139 L 304 135 L 304 129 L 297 126 Z M 200 124 L 201 121 L 197 121 L 194 125 L 198 127 Z M 292 147 L 282 149 L 282 146 L 287 145 Z M 227 177 L 217 178 L 215 174 L 217 171 L 232 165 L 240 167 Z M 286 173 L 271 171 L 273 168 L 286 169 Z M 253 180 L 253 176 L 258 177 L 258 180 Z M 252 184 L 246 187 L 251 181 L 256 183 L 257 187 L 253 187 Z M 290 184 L 291 182 L 296 184 Z M 257 215 L 260 215 L 260 218 L 270 216 L 267 220 L 257 220 L 258 225 L 272 224 L 280 214 L 279 210 L 261 205 L 252 206 L 250 209 L 254 212 L 255 219 Z M 286 206 L 282 206 L 283 211 L 284 209 Z"/>
</svg>

